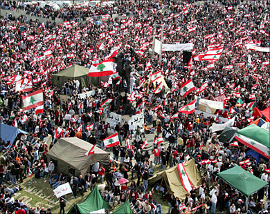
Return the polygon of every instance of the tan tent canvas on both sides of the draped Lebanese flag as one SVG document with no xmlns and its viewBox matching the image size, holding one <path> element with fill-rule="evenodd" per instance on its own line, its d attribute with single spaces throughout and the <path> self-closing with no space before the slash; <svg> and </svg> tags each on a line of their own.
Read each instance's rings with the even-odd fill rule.
<svg viewBox="0 0 270 214">
<path fill-rule="evenodd" d="M 201 184 L 201 176 L 199 175 L 195 160 L 190 159 L 184 164 L 184 166 L 186 168 L 186 173 L 188 174 L 192 186 L 199 186 Z M 185 199 L 186 195 L 188 195 L 188 192 L 183 188 L 177 166 L 169 168 L 168 170 L 162 171 L 160 173 L 156 173 L 153 177 L 149 179 L 149 184 L 154 185 L 160 180 L 162 183 L 165 183 L 165 186 L 168 188 L 169 191 L 174 193 L 175 197 Z"/>
</svg>

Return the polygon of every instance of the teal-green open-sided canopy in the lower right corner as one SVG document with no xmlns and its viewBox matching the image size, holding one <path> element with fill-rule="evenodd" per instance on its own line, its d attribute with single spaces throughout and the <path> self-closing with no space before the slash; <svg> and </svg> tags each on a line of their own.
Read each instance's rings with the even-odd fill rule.
<svg viewBox="0 0 270 214">
<path fill-rule="evenodd" d="M 233 188 L 236 188 L 237 191 L 246 195 L 246 197 L 249 197 L 249 195 L 252 195 L 264 186 L 268 185 L 267 182 L 264 182 L 262 179 L 252 175 L 248 171 L 245 171 L 240 166 L 229 168 L 226 171 L 217 173 L 217 175 L 233 186 Z"/>
</svg>

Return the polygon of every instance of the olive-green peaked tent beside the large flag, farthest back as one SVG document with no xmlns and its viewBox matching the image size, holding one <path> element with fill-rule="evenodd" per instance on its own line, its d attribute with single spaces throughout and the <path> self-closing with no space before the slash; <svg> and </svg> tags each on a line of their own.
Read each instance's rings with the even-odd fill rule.
<svg viewBox="0 0 270 214">
<path fill-rule="evenodd" d="M 78 79 L 80 81 L 80 89 L 84 88 L 84 86 L 89 86 L 89 84 L 98 86 L 99 78 L 89 77 L 88 72 L 89 68 L 84 68 L 78 65 L 71 66 L 53 75 L 53 85 L 62 87 L 64 86 L 65 81 L 68 81 L 69 79 Z"/>
</svg>

